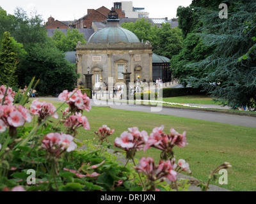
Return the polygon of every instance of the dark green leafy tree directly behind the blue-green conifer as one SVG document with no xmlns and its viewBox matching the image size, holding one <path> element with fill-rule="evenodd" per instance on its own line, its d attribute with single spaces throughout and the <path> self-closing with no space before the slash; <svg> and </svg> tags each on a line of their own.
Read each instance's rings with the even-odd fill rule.
<svg viewBox="0 0 256 204">
<path fill-rule="evenodd" d="M 173 77 L 179 78 L 180 84 L 184 87 L 188 84 L 188 77 L 203 78 L 212 71 L 212 69 L 191 66 L 191 64 L 209 57 L 214 52 L 214 45 L 206 45 L 198 34 L 205 32 L 202 31 L 202 26 L 209 27 L 211 32 L 214 32 L 214 26 L 210 27 L 203 17 L 207 17 L 211 12 L 218 17 L 220 3 L 220 0 L 193 0 L 188 7 L 177 8 L 179 28 L 184 40 L 182 50 L 172 57 L 170 65 L 173 69 Z"/>
</svg>

